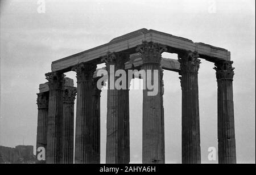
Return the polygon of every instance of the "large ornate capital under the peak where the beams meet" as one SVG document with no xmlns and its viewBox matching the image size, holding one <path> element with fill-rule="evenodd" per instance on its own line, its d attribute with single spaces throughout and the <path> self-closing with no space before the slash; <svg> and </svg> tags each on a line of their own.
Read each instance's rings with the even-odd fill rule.
<svg viewBox="0 0 256 175">
<path fill-rule="evenodd" d="M 141 45 L 137 46 L 136 51 L 142 54 L 143 63 L 160 63 L 161 54 L 167 51 L 167 48 L 166 45 L 143 41 Z"/>
</svg>

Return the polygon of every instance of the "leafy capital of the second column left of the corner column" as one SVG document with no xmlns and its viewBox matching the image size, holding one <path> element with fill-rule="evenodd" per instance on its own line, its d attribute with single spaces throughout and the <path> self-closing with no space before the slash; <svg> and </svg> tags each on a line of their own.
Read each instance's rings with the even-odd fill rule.
<svg viewBox="0 0 256 175">
<path fill-rule="evenodd" d="M 96 71 L 96 63 L 79 63 L 71 70 L 76 72 L 77 81 L 92 81 L 93 72 Z"/>
</svg>

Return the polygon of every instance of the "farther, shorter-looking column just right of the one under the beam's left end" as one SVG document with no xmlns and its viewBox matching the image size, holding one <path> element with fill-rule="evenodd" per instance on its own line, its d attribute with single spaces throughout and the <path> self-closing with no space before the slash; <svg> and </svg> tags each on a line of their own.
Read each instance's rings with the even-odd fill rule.
<svg viewBox="0 0 256 175">
<path fill-rule="evenodd" d="M 65 87 L 63 93 L 63 163 L 73 164 L 75 87 Z"/>
</svg>

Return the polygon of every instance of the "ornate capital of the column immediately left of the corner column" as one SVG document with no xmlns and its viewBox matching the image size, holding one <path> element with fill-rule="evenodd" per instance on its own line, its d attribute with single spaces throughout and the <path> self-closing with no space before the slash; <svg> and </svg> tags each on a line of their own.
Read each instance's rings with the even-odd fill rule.
<svg viewBox="0 0 256 175">
<path fill-rule="evenodd" d="M 101 61 L 106 63 L 106 70 L 108 71 L 110 65 L 114 65 L 115 69 L 125 69 L 125 63 L 129 61 L 129 56 L 129 54 L 123 52 L 112 52 L 106 54 Z"/>
</svg>

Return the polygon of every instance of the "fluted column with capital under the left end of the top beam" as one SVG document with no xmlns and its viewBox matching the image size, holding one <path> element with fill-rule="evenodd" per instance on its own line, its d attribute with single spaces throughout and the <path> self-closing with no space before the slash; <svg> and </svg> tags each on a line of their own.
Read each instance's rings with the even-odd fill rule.
<svg viewBox="0 0 256 175">
<path fill-rule="evenodd" d="M 62 163 L 64 74 L 49 72 L 46 79 L 49 81 L 46 163 Z"/>
</svg>

